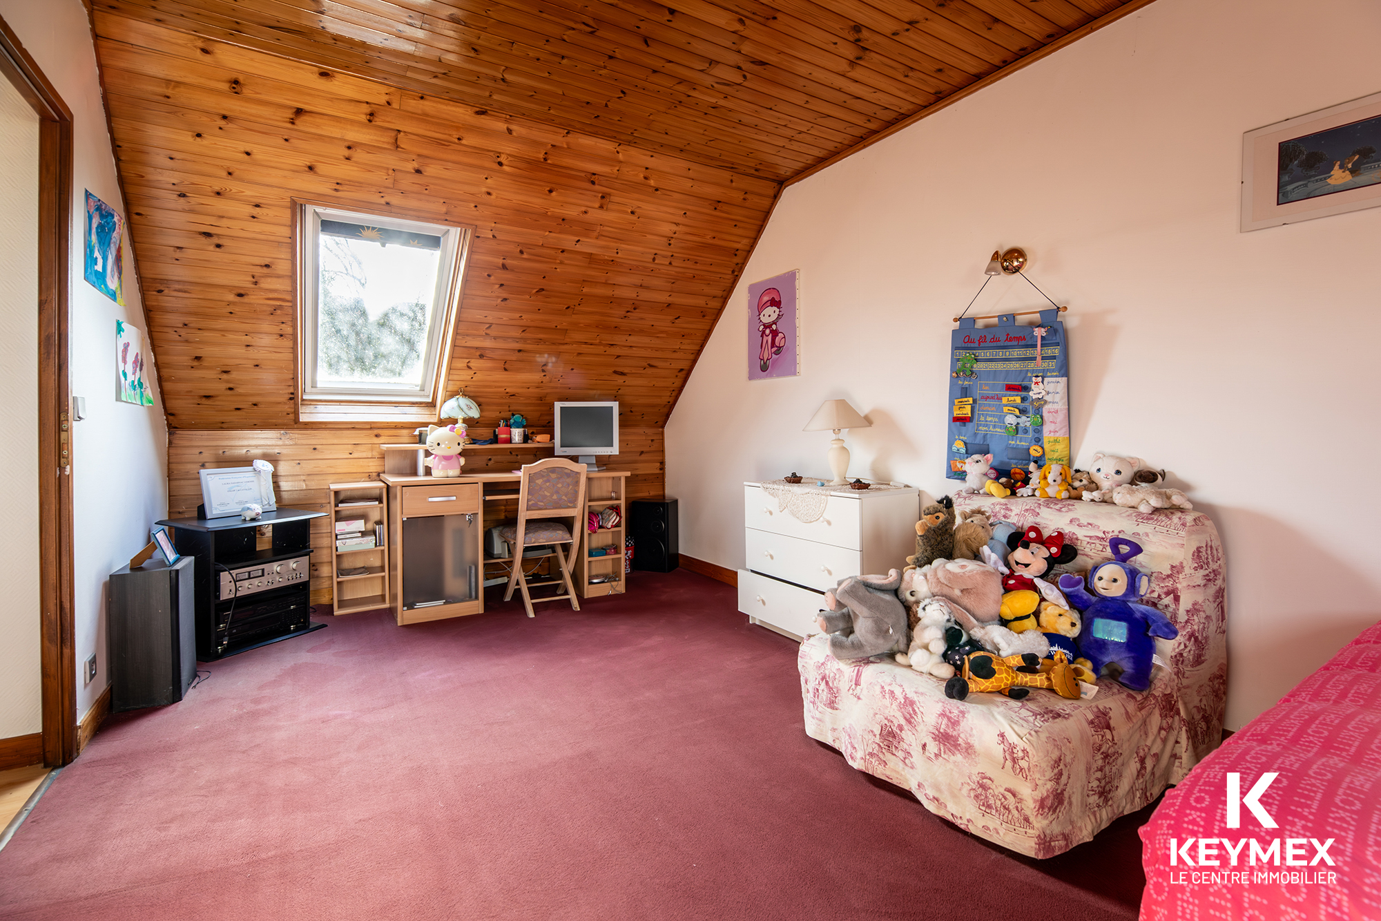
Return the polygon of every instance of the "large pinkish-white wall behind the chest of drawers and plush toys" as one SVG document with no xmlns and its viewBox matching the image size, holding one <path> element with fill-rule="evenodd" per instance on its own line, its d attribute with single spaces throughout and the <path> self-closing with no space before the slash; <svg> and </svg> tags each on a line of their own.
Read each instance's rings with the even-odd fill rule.
<svg viewBox="0 0 1381 921">
<path fill-rule="evenodd" d="M 681 549 L 743 564 L 740 481 L 943 480 L 950 318 L 996 246 L 1070 306 L 1076 463 L 1178 474 L 1228 553 L 1228 725 L 1381 618 L 1381 209 L 1240 234 L 1242 134 L 1381 90 L 1381 6 L 1157 0 L 789 187 L 667 425 Z M 801 270 L 802 375 L 747 382 L 747 282 Z M 1001 277 L 975 314 L 1044 301 Z"/>
</svg>

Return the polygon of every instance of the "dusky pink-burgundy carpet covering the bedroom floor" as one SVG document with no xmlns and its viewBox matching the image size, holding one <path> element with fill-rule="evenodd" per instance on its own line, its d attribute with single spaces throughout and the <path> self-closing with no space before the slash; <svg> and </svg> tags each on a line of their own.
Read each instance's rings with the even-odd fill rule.
<svg viewBox="0 0 1381 921">
<path fill-rule="evenodd" d="M 630 589 L 213 662 L 57 779 L 0 917 L 1135 917 L 1143 815 L 1048 862 L 971 838 L 805 736 L 731 588 Z"/>
</svg>

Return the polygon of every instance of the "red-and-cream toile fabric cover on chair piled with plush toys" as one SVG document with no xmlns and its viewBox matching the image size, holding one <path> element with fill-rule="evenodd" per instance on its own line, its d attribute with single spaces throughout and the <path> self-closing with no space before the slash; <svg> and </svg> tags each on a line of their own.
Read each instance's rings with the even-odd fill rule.
<svg viewBox="0 0 1381 921">
<path fill-rule="evenodd" d="M 1145 600 L 1179 629 L 1178 639 L 1157 640 L 1167 667 L 1145 693 L 1103 678 L 1085 700 L 1037 690 L 1021 701 L 956 701 L 945 682 L 891 655 L 841 662 L 824 636 L 808 636 L 798 658 L 805 732 L 958 827 L 1052 857 L 1150 803 L 1218 745 L 1228 687 L 1218 530 L 1199 512 L 1143 514 L 1083 501 L 963 495 L 956 508 L 1063 531 L 1079 548 L 1066 570 L 1112 559 L 1110 537 L 1141 543 L 1131 563 L 1152 577 Z"/>
</svg>

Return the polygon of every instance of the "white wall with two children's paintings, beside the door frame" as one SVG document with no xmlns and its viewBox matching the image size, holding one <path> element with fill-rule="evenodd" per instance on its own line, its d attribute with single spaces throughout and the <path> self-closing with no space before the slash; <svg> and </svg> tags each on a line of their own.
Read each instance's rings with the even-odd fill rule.
<svg viewBox="0 0 1381 921">
<path fill-rule="evenodd" d="M 127 216 L 106 130 L 91 26 L 81 0 L 0 0 L 0 17 L 57 89 L 73 120 L 72 180 L 72 394 L 86 397 L 87 419 L 73 425 L 72 492 L 76 588 L 77 715 L 109 683 L 105 655 L 105 589 L 109 574 L 149 539 L 149 525 L 167 516 L 167 425 L 149 351 L 155 405 L 116 401 L 115 321 L 144 332 L 134 253 L 126 236 L 124 300 L 120 307 L 87 283 L 83 272 L 86 189 Z M 98 675 L 83 686 L 83 662 L 97 653 Z"/>
</svg>

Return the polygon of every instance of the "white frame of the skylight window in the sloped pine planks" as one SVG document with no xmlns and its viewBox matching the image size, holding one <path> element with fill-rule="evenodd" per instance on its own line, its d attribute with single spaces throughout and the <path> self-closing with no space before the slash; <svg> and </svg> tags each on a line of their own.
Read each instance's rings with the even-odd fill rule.
<svg viewBox="0 0 1381 921">
<path fill-rule="evenodd" d="M 297 235 L 297 365 L 298 419 L 311 420 L 412 420 L 434 419 L 441 409 L 442 387 L 450 366 L 452 339 L 465 274 L 465 260 L 474 230 L 454 224 L 434 224 L 296 201 Z M 387 230 L 441 236 L 436 289 L 423 353 L 423 376 L 417 387 L 323 387 L 316 383 L 318 318 L 320 296 L 322 218 L 367 224 Z"/>
</svg>

